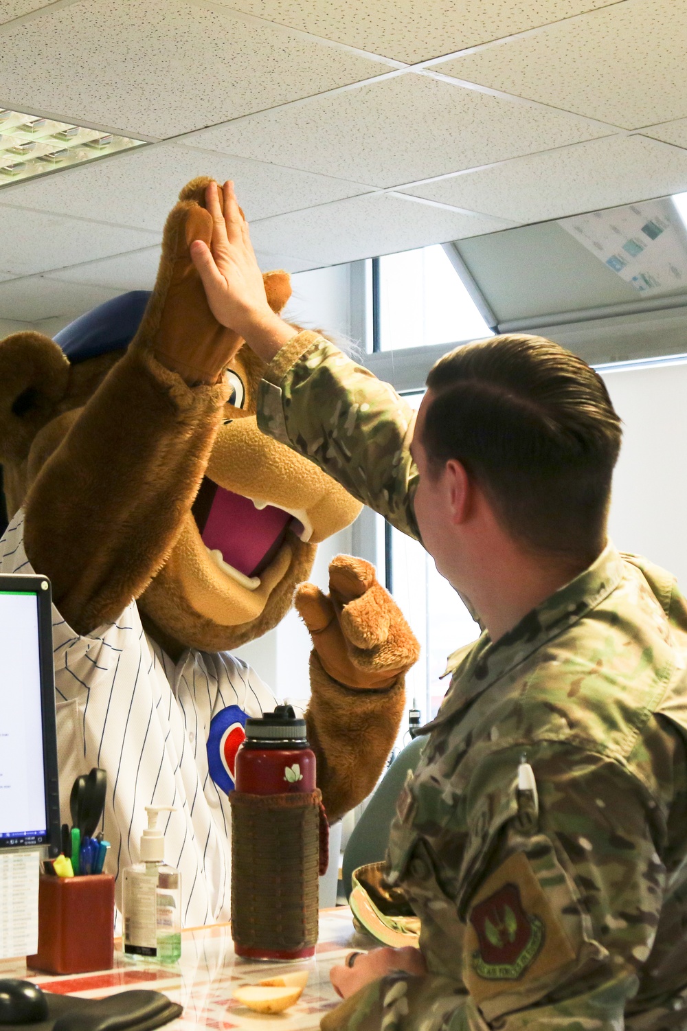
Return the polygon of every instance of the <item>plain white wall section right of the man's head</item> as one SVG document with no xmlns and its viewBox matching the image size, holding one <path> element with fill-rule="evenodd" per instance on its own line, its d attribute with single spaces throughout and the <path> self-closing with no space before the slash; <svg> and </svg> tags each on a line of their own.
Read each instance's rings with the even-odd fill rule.
<svg viewBox="0 0 687 1031">
<path fill-rule="evenodd" d="M 687 362 L 602 375 L 624 424 L 611 538 L 675 573 L 687 590 Z"/>
</svg>

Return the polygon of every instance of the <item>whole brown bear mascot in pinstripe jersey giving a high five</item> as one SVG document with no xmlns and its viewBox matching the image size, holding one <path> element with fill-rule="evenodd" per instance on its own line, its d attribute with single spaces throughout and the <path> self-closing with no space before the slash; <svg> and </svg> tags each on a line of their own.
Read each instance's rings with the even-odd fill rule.
<svg viewBox="0 0 687 1031">
<path fill-rule="evenodd" d="M 233 760 L 248 717 L 275 704 L 228 650 L 275 626 L 300 584 L 307 734 L 330 820 L 374 787 L 418 656 L 368 563 L 334 559 L 329 595 L 301 583 L 317 542 L 360 506 L 258 430 L 263 369 L 215 320 L 189 256 L 193 239 L 209 242 L 208 181 L 171 211 L 150 298 L 81 317 L 59 334 L 64 350 L 33 332 L 0 343 L 0 571 L 52 580 L 62 819 L 74 776 L 104 768 L 121 906 L 144 806 L 173 806 L 166 860 L 187 927 L 229 919 Z M 287 273 L 265 289 L 281 310 Z"/>
</svg>

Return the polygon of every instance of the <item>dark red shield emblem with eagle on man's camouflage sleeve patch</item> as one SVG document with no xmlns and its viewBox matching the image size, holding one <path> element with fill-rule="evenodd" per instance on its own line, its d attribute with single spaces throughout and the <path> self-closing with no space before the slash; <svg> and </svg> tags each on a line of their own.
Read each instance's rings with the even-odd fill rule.
<svg viewBox="0 0 687 1031">
<path fill-rule="evenodd" d="M 545 937 L 544 923 L 525 912 L 520 891 L 505 884 L 470 912 L 479 949 L 472 969 L 489 980 L 517 980 L 536 958 Z"/>
</svg>

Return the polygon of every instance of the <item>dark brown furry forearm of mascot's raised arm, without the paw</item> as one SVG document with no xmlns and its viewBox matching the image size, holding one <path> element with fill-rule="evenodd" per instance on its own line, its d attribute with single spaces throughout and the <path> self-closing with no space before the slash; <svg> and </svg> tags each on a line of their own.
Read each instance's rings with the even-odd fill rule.
<svg viewBox="0 0 687 1031">
<path fill-rule="evenodd" d="M 50 576 L 56 605 L 77 633 L 116 620 L 164 562 L 198 490 L 227 391 L 192 390 L 132 344 L 52 454 L 44 433 L 35 438 L 26 553 Z"/>
</svg>

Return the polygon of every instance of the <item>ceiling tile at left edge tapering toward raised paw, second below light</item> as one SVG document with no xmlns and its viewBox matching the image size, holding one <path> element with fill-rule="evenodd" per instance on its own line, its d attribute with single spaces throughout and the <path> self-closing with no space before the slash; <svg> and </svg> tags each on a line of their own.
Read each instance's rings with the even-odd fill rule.
<svg viewBox="0 0 687 1031">
<path fill-rule="evenodd" d="M 157 233 L 63 219 L 0 203 L 2 263 L 17 275 L 138 250 L 156 243 L 158 238 Z"/>
</svg>

